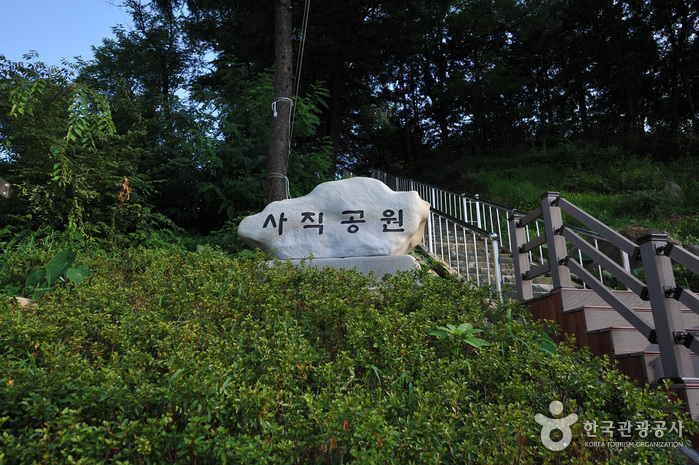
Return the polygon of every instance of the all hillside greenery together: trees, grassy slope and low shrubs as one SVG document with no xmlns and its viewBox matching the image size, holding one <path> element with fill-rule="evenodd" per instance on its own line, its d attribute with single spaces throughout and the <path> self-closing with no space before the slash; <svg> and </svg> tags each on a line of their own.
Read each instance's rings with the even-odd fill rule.
<svg viewBox="0 0 699 465">
<path fill-rule="evenodd" d="M 270 179 L 377 168 L 699 242 L 696 2 L 294 1 L 293 95 L 270 2 L 119 3 L 93 59 L 0 55 L 0 465 L 683 463 L 589 446 L 593 422 L 697 428 L 520 305 L 269 267 L 236 225 Z M 579 417 L 562 452 L 553 400 Z"/>
</svg>

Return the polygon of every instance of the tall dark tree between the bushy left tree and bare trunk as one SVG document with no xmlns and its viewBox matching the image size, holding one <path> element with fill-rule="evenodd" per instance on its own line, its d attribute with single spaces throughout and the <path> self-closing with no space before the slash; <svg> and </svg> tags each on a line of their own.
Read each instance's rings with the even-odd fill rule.
<svg viewBox="0 0 699 465">
<path fill-rule="evenodd" d="M 137 141 L 139 171 L 151 180 L 150 201 L 178 225 L 217 229 L 225 218 L 203 202 L 201 160 L 210 149 L 210 118 L 189 101 L 204 50 L 185 34 L 189 13 L 177 2 L 124 3 L 134 27 L 115 27 L 116 39 L 95 49 L 81 78 L 110 96 L 120 133 L 143 133 Z"/>
</svg>

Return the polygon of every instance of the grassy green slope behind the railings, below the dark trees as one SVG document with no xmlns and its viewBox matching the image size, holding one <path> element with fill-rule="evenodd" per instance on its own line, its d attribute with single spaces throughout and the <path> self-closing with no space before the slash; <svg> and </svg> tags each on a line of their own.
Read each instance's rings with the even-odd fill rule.
<svg viewBox="0 0 699 465">
<path fill-rule="evenodd" d="M 663 229 L 699 244 L 699 164 L 690 154 L 661 162 L 620 147 L 568 142 L 508 156 L 457 152 L 405 175 L 521 211 L 536 208 L 544 192 L 560 192 L 613 228 Z"/>
</svg>

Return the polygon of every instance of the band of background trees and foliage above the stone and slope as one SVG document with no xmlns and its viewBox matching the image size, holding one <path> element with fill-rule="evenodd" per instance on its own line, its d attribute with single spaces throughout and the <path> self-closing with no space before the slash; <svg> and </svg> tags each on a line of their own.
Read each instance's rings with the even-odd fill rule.
<svg viewBox="0 0 699 465">
<path fill-rule="evenodd" d="M 570 141 L 697 154 L 697 1 L 331 0 L 310 5 L 307 29 L 291 6 L 292 195 L 348 166 Z M 264 205 L 274 2 L 121 8 L 133 27 L 92 60 L 0 61 L 0 174 L 19 186 L 3 222 L 206 232 Z"/>
</svg>

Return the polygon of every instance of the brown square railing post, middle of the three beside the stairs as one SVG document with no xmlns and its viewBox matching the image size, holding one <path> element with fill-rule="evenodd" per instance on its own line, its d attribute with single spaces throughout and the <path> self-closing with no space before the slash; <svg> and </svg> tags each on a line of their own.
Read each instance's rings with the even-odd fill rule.
<svg viewBox="0 0 699 465">
<path fill-rule="evenodd" d="M 567 266 L 561 265 L 560 261 L 568 255 L 566 240 L 560 234 L 563 226 L 563 216 L 561 208 L 558 206 L 558 192 L 546 192 L 541 196 L 541 211 L 544 216 L 546 226 L 546 242 L 549 245 L 549 264 L 551 267 L 551 278 L 553 288 L 572 287 L 570 270 Z"/>
</svg>

